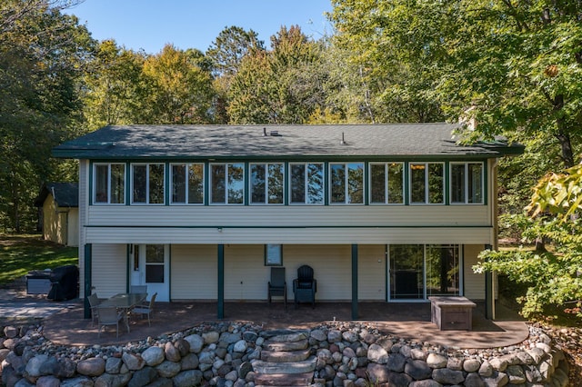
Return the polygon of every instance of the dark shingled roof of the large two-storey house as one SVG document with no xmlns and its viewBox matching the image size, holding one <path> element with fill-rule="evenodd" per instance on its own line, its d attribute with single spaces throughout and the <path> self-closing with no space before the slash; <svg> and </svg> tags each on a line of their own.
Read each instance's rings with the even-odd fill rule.
<svg viewBox="0 0 582 387">
<path fill-rule="evenodd" d="M 487 158 L 523 153 L 522 145 L 508 145 L 503 139 L 459 145 L 453 137 L 458 127 L 458 124 L 105 126 L 55 147 L 53 154 L 78 159 L 292 159 L 337 156 Z"/>
</svg>

